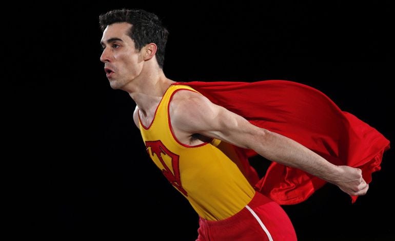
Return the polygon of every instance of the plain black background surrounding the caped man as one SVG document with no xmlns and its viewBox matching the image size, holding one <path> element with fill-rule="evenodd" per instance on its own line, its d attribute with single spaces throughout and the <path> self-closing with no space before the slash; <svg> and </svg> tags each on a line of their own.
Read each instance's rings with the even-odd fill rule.
<svg viewBox="0 0 395 241">
<path fill-rule="evenodd" d="M 11 133 L 5 156 L 13 170 L 5 186 L 15 237 L 197 236 L 198 216 L 149 160 L 132 122 L 135 104 L 109 87 L 99 61 L 98 15 L 115 8 L 143 8 L 163 19 L 170 32 L 164 72 L 175 81 L 307 84 L 395 137 L 389 1 L 15 6 L 3 34 L 10 86 L 3 89 L 10 95 L 4 127 Z M 356 204 L 326 185 L 302 204 L 283 206 L 299 239 L 393 240 L 393 159 L 393 150 L 385 153 Z"/>
</svg>

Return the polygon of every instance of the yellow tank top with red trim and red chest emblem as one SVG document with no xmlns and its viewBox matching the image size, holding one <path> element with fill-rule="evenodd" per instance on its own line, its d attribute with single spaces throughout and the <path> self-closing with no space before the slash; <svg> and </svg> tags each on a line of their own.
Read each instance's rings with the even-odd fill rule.
<svg viewBox="0 0 395 241">
<path fill-rule="evenodd" d="M 237 154 L 231 145 L 214 139 L 211 143 L 187 146 L 175 138 L 168 109 L 173 94 L 179 90 L 195 91 L 188 86 L 170 86 L 151 125 L 145 127 L 140 121 L 147 152 L 201 217 L 225 219 L 242 210 L 255 191 L 235 164 Z"/>
</svg>

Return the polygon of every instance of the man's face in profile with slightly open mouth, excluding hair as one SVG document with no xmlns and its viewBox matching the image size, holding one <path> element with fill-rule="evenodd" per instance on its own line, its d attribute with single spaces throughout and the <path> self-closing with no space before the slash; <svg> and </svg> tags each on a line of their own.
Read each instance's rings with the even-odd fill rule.
<svg viewBox="0 0 395 241">
<path fill-rule="evenodd" d="M 103 32 L 104 48 L 100 61 L 104 63 L 106 76 L 113 89 L 121 89 L 139 76 L 144 59 L 134 48 L 134 42 L 127 35 L 132 25 L 116 23 L 107 26 Z"/>
</svg>

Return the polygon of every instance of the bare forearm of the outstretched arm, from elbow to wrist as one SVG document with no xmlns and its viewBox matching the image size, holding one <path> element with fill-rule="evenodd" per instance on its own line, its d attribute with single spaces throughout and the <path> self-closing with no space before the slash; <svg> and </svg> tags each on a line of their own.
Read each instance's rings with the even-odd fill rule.
<svg viewBox="0 0 395 241">
<path fill-rule="evenodd" d="M 337 182 L 341 175 L 338 166 L 288 137 L 260 129 L 253 139 L 251 149 L 273 162 L 301 169 L 330 183 Z"/>
</svg>

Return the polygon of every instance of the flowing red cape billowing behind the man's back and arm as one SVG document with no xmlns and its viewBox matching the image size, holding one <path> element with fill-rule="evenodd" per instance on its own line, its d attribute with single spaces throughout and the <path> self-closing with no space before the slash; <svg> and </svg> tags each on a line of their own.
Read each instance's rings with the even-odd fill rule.
<svg viewBox="0 0 395 241">
<path fill-rule="evenodd" d="M 179 82 L 199 91 L 214 104 L 239 114 L 255 126 L 287 136 L 318 153 L 335 165 L 362 169 L 371 182 L 371 173 L 380 170 L 389 140 L 356 116 L 342 111 L 325 94 L 290 81 Z M 250 182 L 258 175 L 249 166 L 252 150 L 240 149 Z M 325 181 L 296 168 L 271 163 L 266 175 L 255 185 L 275 202 L 297 204 L 306 200 Z M 352 196 L 353 202 L 357 196 Z"/>
</svg>

